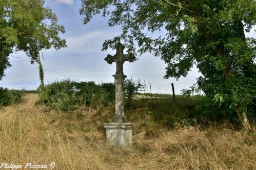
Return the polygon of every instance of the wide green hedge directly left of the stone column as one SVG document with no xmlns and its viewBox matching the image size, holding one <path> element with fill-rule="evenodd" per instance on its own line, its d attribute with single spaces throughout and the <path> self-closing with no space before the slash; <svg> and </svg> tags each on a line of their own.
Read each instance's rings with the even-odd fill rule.
<svg viewBox="0 0 256 170">
<path fill-rule="evenodd" d="M 41 88 L 38 103 L 58 111 L 85 110 L 100 111 L 114 100 L 113 83 L 74 82 L 69 79 L 56 81 Z"/>
</svg>

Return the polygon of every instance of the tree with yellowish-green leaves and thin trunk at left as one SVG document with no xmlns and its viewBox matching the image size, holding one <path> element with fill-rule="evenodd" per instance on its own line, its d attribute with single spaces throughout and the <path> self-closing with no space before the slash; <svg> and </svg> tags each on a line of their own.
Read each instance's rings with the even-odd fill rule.
<svg viewBox="0 0 256 170">
<path fill-rule="evenodd" d="M 66 47 L 64 26 L 58 25 L 51 9 L 44 7 L 43 0 L 1 0 L 0 1 L 0 80 L 4 71 L 11 66 L 9 56 L 24 51 L 40 66 L 41 84 L 43 68 L 40 60 L 42 50 Z"/>
</svg>

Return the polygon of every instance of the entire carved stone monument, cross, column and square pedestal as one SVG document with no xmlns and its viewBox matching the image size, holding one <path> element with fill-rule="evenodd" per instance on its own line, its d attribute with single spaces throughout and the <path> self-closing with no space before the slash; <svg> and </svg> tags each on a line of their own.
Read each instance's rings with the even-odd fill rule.
<svg viewBox="0 0 256 170">
<path fill-rule="evenodd" d="M 115 114 L 113 123 L 105 123 L 107 130 L 107 143 L 119 147 L 126 147 L 132 143 L 132 127 L 134 123 L 126 123 L 124 115 L 124 80 L 127 76 L 123 72 L 125 61 L 135 61 L 136 57 L 132 53 L 124 54 L 125 46 L 120 42 L 116 44 L 116 54 L 108 55 L 104 60 L 107 63 L 116 63 L 116 72 L 113 75 L 115 80 Z"/>
</svg>

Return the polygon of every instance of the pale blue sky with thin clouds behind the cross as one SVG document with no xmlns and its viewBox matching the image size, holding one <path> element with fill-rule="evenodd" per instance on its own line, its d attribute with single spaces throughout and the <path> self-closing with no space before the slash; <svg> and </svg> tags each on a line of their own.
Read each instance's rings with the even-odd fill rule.
<svg viewBox="0 0 256 170">
<path fill-rule="evenodd" d="M 46 0 L 45 6 L 51 8 L 58 17 L 58 23 L 65 26 L 66 33 L 60 36 L 66 39 L 68 46 L 43 53 L 46 59 L 42 61 L 45 84 L 62 79 L 114 82 L 112 75 L 115 74 L 115 64 L 108 64 L 104 58 L 108 54 L 114 55 L 115 51 L 101 49 L 104 40 L 115 37 L 121 33 L 121 29 L 108 27 L 107 19 L 101 15 L 94 16 L 87 25 L 83 25 L 83 16 L 79 14 L 80 0 Z M 248 36 L 256 37 L 255 32 Z M 198 70 L 192 68 L 187 77 L 179 81 L 164 79 L 166 64 L 160 57 L 147 53 L 138 58 L 133 63 L 124 63 L 124 74 L 127 78 L 140 79 L 146 84 L 150 81 L 152 93 L 172 93 L 173 83 L 175 93 L 179 94 L 181 89 L 192 86 L 200 76 Z M 12 67 L 5 71 L 6 77 L 0 81 L 0 86 L 33 90 L 40 85 L 38 64 L 30 64 L 25 53 L 12 54 L 9 61 Z"/>
</svg>

